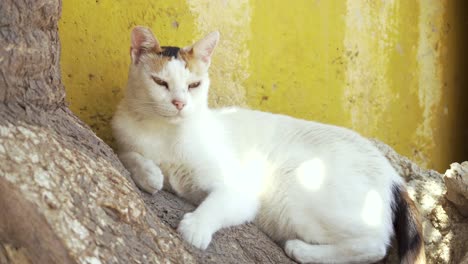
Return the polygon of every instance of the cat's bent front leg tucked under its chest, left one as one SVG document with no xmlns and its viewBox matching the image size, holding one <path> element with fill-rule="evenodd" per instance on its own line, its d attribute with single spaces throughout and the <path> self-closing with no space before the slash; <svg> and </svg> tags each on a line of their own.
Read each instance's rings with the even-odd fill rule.
<svg viewBox="0 0 468 264">
<path fill-rule="evenodd" d="M 161 190 L 164 177 L 161 169 L 152 160 L 136 152 L 121 153 L 119 158 L 140 189 L 151 194 Z"/>
</svg>

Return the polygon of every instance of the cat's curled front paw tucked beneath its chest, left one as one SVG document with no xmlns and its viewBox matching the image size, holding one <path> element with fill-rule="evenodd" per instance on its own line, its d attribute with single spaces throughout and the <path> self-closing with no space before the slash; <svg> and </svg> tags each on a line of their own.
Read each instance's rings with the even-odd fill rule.
<svg viewBox="0 0 468 264">
<path fill-rule="evenodd" d="M 140 163 L 131 173 L 136 185 L 147 193 L 154 194 L 163 187 L 164 176 L 161 169 L 150 160 Z"/>
</svg>

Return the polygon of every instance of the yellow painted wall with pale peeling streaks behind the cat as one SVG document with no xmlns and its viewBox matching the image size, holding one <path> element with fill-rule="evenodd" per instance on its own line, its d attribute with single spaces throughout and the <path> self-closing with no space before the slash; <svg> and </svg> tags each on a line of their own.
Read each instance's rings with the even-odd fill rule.
<svg viewBox="0 0 468 264">
<path fill-rule="evenodd" d="M 444 170 L 456 146 L 450 1 L 63 0 L 71 109 L 105 141 L 126 85 L 129 34 L 163 45 L 221 32 L 213 106 L 245 105 L 353 128 Z"/>
</svg>

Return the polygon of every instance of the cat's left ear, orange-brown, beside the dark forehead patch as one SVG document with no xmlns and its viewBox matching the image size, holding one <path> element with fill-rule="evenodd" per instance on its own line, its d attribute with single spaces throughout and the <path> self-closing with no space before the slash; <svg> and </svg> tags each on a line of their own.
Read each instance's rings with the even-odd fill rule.
<svg viewBox="0 0 468 264">
<path fill-rule="evenodd" d="M 136 26 L 132 30 L 131 35 L 132 46 L 130 47 L 130 55 L 132 62 L 138 64 L 140 55 L 146 51 L 161 52 L 161 46 L 153 32 L 147 27 Z"/>
</svg>

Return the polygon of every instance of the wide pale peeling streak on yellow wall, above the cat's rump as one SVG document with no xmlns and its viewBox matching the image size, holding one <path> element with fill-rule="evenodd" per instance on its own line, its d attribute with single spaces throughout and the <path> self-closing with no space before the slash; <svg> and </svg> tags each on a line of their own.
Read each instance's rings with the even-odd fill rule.
<svg viewBox="0 0 468 264">
<path fill-rule="evenodd" d="M 348 0 L 344 46 L 350 53 L 343 104 L 349 109 L 351 127 L 366 136 L 377 134 L 380 120 L 394 100 L 386 69 L 396 49 L 395 1 Z M 378 10 L 379 14 L 375 14 Z"/>
</svg>

